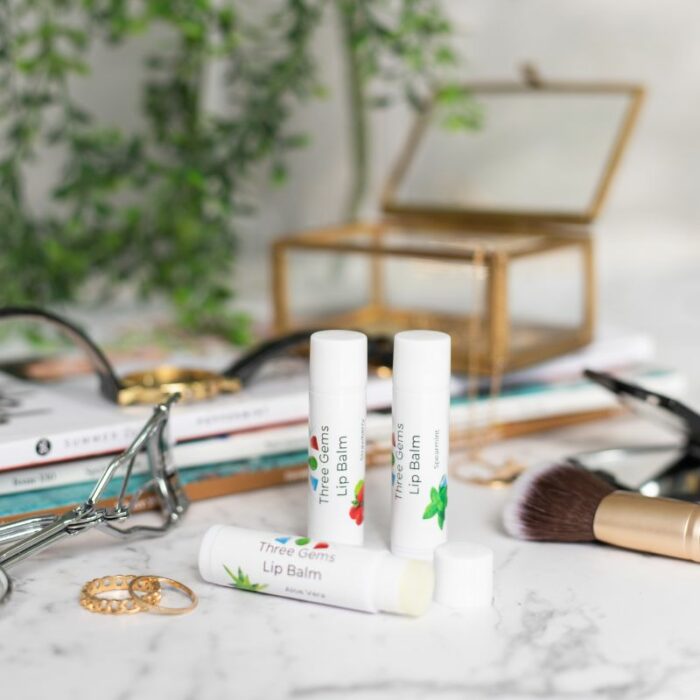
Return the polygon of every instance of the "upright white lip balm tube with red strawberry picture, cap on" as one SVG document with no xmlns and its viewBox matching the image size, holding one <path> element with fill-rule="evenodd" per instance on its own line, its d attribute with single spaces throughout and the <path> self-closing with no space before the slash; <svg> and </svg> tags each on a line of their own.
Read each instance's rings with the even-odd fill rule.
<svg viewBox="0 0 700 700">
<path fill-rule="evenodd" d="M 367 336 L 318 331 L 309 376 L 308 534 L 361 545 L 365 517 Z"/>
</svg>

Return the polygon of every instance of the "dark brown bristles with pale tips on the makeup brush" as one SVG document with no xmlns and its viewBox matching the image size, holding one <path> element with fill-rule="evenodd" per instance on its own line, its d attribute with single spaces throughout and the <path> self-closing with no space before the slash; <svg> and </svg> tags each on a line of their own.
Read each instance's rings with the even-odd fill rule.
<svg viewBox="0 0 700 700">
<path fill-rule="evenodd" d="M 591 542 L 600 502 L 615 490 L 586 469 L 553 464 L 518 478 L 503 512 L 513 537 L 550 542 Z"/>
</svg>

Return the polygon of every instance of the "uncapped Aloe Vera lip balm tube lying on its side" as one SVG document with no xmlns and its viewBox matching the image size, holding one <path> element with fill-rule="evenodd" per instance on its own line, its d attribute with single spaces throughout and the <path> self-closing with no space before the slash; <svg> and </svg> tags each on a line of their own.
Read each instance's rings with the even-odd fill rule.
<svg viewBox="0 0 700 700">
<path fill-rule="evenodd" d="M 214 525 L 199 550 L 210 583 L 365 612 L 422 615 L 433 568 L 387 551 Z"/>
</svg>

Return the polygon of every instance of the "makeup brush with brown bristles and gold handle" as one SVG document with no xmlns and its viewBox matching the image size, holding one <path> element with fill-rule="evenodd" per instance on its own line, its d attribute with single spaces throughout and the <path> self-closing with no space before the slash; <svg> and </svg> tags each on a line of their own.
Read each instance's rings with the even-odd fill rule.
<svg viewBox="0 0 700 700">
<path fill-rule="evenodd" d="M 549 542 L 605 542 L 700 562 L 700 505 L 618 491 L 573 464 L 530 469 L 503 512 L 513 537 Z"/>
</svg>

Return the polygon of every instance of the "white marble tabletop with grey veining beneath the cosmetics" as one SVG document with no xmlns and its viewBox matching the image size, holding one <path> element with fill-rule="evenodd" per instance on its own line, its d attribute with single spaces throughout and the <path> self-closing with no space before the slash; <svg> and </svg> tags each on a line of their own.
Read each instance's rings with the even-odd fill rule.
<svg viewBox="0 0 700 700">
<path fill-rule="evenodd" d="M 629 419 L 521 439 L 528 459 L 650 440 Z M 368 477 L 368 540 L 388 526 L 388 471 Z M 506 493 L 453 480 L 450 527 L 495 551 L 495 604 L 438 606 L 420 619 L 370 615 L 215 587 L 196 569 L 212 523 L 301 531 L 304 486 L 196 503 L 165 538 L 120 544 L 92 532 L 16 566 L 0 611 L 0 697 L 696 698 L 700 569 L 596 545 L 522 543 L 500 525 Z M 112 618 L 78 606 L 80 586 L 117 573 L 191 585 L 181 618 Z"/>
</svg>

